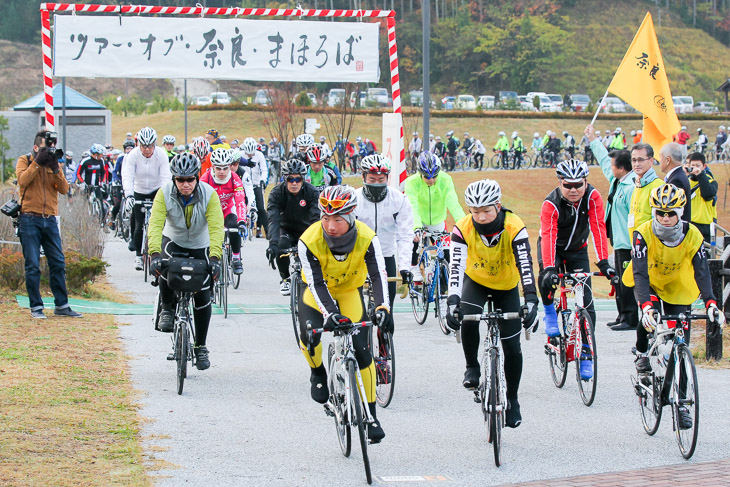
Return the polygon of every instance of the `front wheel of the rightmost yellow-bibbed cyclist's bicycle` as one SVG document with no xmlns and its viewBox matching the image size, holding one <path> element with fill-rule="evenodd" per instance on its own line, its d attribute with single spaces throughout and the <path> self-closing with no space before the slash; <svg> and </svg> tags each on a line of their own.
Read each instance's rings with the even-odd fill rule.
<svg viewBox="0 0 730 487">
<path fill-rule="evenodd" d="M 692 353 L 689 351 L 689 347 L 684 344 L 677 347 L 671 391 L 674 431 L 677 435 L 679 451 L 684 458 L 690 459 L 697 446 L 697 433 L 699 432 L 700 422 L 700 391 Z M 680 421 L 680 411 L 686 411 L 687 416 L 684 422 Z"/>
</svg>

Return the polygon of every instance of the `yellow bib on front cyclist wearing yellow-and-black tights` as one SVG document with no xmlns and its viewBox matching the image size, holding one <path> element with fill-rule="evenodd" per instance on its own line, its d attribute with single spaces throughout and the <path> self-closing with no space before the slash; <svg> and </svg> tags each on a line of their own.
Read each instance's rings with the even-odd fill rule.
<svg viewBox="0 0 730 487">
<path fill-rule="evenodd" d="M 365 254 L 375 237 L 375 232 L 360 220 L 356 220 L 355 225 L 357 226 L 355 247 L 342 262 L 332 255 L 324 239 L 324 230 L 320 222 L 313 223 L 299 238 L 319 260 L 327 289 L 332 295 L 362 287 L 368 275 Z M 304 274 L 302 280 L 307 282 Z"/>
</svg>

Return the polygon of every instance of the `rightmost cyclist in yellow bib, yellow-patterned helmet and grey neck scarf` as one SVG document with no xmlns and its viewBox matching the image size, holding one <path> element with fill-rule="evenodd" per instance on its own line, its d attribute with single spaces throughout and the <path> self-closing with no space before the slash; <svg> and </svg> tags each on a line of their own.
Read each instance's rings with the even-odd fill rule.
<svg viewBox="0 0 730 487">
<path fill-rule="evenodd" d="M 651 372 L 649 357 L 645 355 L 647 333 L 656 328 L 660 312 L 688 313 L 701 295 L 710 320 L 720 326 L 725 323 L 725 315 L 712 292 L 702 234 L 682 221 L 684 190 L 663 184 L 651 192 L 649 203 L 653 218 L 634 231 L 631 264 L 623 276 L 627 285 L 636 286 L 634 293 L 642 311 L 643 326 L 636 330 L 636 349 L 640 352 L 636 370 L 641 373 Z M 690 328 L 685 331 L 685 341 L 690 342 Z M 692 419 L 688 411 L 680 407 L 679 414 L 680 427 L 690 428 Z"/>
</svg>

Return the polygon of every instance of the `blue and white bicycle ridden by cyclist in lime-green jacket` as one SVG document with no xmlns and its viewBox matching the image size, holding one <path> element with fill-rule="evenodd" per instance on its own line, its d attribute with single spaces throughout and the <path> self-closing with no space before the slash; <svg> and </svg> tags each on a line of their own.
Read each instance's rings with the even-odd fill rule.
<svg viewBox="0 0 730 487">
<path fill-rule="evenodd" d="M 418 267 L 424 279 L 409 284 L 408 295 L 411 299 L 413 316 L 419 325 L 426 322 L 430 303 L 434 304 L 434 314 L 444 335 L 450 335 L 446 324 L 446 293 L 448 292 L 448 262 L 444 248 L 448 247 L 451 234 L 447 232 L 421 231 Z M 458 335 L 457 335 L 458 339 Z"/>
</svg>

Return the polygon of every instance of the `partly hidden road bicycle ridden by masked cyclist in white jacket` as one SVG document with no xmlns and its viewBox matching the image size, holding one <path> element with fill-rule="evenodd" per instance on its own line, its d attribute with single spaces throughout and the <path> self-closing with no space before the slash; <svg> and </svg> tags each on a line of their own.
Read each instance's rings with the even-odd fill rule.
<svg viewBox="0 0 730 487">
<path fill-rule="evenodd" d="M 389 277 L 388 282 L 401 282 L 401 278 Z M 370 277 L 365 280 L 362 293 L 368 316 L 374 316 L 375 301 Z M 395 345 L 393 344 L 393 334 L 383 331 L 379 326 L 372 327 L 370 347 L 373 352 L 373 360 L 375 361 L 375 400 L 378 405 L 385 408 L 393 400 L 393 390 L 395 388 Z"/>
</svg>

